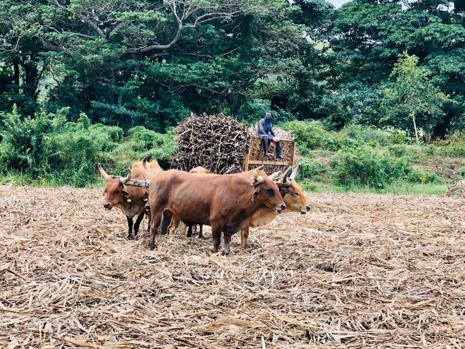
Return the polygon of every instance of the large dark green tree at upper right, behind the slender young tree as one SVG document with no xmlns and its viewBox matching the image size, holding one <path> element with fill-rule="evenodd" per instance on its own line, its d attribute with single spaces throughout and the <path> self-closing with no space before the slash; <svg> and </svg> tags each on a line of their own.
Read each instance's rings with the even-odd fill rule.
<svg viewBox="0 0 465 349">
<path fill-rule="evenodd" d="M 378 125 L 381 92 L 406 51 L 450 97 L 431 123 L 433 136 L 463 127 L 465 13 L 461 7 L 451 11 L 450 5 L 447 0 L 352 0 L 337 9 L 325 26 L 331 50 L 322 115 Z"/>
</svg>

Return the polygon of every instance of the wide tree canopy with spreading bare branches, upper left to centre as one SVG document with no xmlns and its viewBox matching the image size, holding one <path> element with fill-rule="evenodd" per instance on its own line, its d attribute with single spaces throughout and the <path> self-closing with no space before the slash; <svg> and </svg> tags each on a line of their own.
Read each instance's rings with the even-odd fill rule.
<svg viewBox="0 0 465 349">
<path fill-rule="evenodd" d="M 10 102 L 36 102 L 45 72 L 49 109 L 125 129 L 164 129 L 189 111 L 237 114 L 266 95 L 258 79 L 288 75 L 312 47 L 292 21 L 299 7 L 281 0 L 1 0 L 0 9 Z"/>
</svg>

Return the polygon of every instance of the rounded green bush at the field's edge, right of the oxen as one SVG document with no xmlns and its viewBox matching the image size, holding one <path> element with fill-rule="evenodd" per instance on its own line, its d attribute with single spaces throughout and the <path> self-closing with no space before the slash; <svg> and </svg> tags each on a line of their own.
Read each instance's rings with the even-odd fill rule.
<svg viewBox="0 0 465 349">
<path fill-rule="evenodd" d="M 368 186 L 377 189 L 384 188 L 386 176 L 377 153 L 369 146 L 356 148 L 341 148 L 331 158 L 336 181 L 342 185 Z"/>
</svg>

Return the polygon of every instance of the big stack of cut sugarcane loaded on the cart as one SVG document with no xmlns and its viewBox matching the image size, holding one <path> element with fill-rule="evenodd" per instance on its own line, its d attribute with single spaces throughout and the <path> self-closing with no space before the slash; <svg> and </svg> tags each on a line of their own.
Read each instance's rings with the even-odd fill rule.
<svg viewBox="0 0 465 349">
<path fill-rule="evenodd" d="M 294 139 L 291 132 L 277 127 L 275 133 L 281 139 Z M 216 174 L 241 172 L 250 137 L 254 135 L 255 127 L 247 127 L 222 113 L 191 114 L 176 129 L 178 152 L 172 167 L 189 171 L 202 166 Z"/>
</svg>

